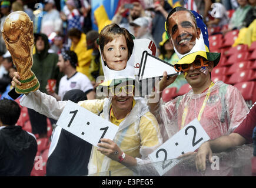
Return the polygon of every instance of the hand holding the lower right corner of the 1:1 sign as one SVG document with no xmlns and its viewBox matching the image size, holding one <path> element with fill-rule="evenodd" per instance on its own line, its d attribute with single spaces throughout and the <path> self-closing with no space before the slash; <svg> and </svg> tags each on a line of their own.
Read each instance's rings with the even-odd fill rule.
<svg viewBox="0 0 256 188">
<path fill-rule="evenodd" d="M 122 150 L 115 142 L 110 139 L 101 139 L 101 142 L 98 143 L 98 146 L 99 147 L 97 150 L 112 160 L 118 161 L 118 157 L 122 155 Z M 118 155 L 115 155 L 115 151 L 118 152 Z"/>
</svg>

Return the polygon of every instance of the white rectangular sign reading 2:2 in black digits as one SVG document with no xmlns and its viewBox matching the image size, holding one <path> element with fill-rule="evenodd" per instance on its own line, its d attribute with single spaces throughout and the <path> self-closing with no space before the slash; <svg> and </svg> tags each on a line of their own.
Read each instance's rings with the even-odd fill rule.
<svg viewBox="0 0 256 188">
<path fill-rule="evenodd" d="M 149 158 L 153 163 L 163 161 L 162 168 L 157 168 L 158 173 L 162 175 L 175 166 L 172 161 L 165 162 L 165 160 L 176 159 L 184 153 L 194 152 L 202 143 L 209 139 L 210 137 L 207 135 L 207 132 L 205 132 L 200 122 L 194 119 L 152 152 Z"/>
</svg>

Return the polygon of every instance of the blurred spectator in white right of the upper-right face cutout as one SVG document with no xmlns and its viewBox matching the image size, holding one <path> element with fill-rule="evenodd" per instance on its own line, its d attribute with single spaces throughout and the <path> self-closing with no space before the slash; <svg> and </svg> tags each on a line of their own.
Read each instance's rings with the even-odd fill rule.
<svg viewBox="0 0 256 188">
<path fill-rule="evenodd" d="M 208 21 L 206 25 L 208 27 L 217 27 L 219 26 L 222 28 L 222 26 L 227 25 L 229 18 L 227 14 L 227 10 L 225 9 L 225 6 L 223 6 L 220 2 L 215 2 L 211 5 L 212 11 L 211 16 L 213 19 Z"/>
</svg>

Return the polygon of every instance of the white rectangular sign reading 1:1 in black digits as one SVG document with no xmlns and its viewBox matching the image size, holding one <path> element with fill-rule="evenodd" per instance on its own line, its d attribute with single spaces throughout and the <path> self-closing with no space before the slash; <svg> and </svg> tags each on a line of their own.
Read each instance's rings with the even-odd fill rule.
<svg viewBox="0 0 256 188">
<path fill-rule="evenodd" d="M 56 125 L 94 146 L 97 146 L 103 137 L 113 140 L 118 131 L 117 125 L 70 100 L 62 111 Z"/>
</svg>

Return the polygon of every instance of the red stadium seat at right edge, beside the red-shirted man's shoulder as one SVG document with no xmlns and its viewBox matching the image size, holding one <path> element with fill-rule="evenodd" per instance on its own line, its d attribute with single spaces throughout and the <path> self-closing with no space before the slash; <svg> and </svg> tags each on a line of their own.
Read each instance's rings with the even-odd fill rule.
<svg viewBox="0 0 256 188">
<path fill-rule="evenodd" d="M 244 100 L 252 100 L 252 103 L 256 101 L 256 82 L 240 82 L 234 86 L 240 90 Z"/>
</svg>

